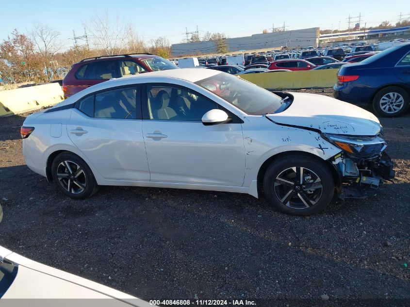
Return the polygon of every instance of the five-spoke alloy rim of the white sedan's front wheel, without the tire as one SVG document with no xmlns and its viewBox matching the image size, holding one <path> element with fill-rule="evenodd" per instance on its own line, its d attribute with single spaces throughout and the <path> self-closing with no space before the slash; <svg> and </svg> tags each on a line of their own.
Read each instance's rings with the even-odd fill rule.
<svg viewBox="0 0 410 307">
<path fill-rule="evenodd" d="M 319 201 L 323 186 L 319 176 L 312 170 L 290 167 L 276 177 L 274 190 L 283 205 L 293 209 L 306 209 Z"/>
</svg>

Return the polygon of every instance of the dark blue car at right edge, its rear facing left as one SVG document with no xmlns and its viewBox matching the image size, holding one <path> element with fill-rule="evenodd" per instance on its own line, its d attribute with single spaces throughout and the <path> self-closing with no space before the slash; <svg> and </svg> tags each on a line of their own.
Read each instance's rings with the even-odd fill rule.
<svg viewBox="0 0 410 307">
<path fill-rule="evenodd" d="M 410 103 L 410 43 L 342 66 L 337 80 L 333 87 L 337 99 L 361 106 L 371 104 L 384 117 L 405 113 Z"/>
</svg>

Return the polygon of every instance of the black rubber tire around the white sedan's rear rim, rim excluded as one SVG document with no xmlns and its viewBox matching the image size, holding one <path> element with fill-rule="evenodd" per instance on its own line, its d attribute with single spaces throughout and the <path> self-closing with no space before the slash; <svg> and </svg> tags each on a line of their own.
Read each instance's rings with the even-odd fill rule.
<svg viewBox="0 0 410 307">
<path fill-rule="evenodd" d="M 87 184 L 85 186 L 84 191 L 82 191 L 79 194 L 73 194 L 68 192 L 60 183 L 60 181 L 58 180 L 56 174 L 57 174 L 57 167 L 58 165 L 63 162 L 63 161 L 72 161 L 77 163 L 78 165 L 81 166 L 82 170 L 85 173 L 85 178 L 87 180 Z M 90 167 L 87 165 L 86 162 L 84 162 L 84 160 L 82 160 L 79 156 L 73 154 L 73 153 L 69 153 L 69 152 L 63 152 L 61 154 L 59 154 L 57 157 L 55 157 L 52 165 L 51 165 L 51 174 L 53 177 L 53 180 L 55 182 L 55 184 L 57 185 L 57 188 L 62 191 L 64 194 L 66 194 L 67 196 L 74 198 L 74 199 L 84 199 L 87 198 L 89 196 L 91 196 L 92 194 L 94 194 L 94 192 L 96 191 L 97 188 L 97 183 L 95 181 L 93 172 L 91 171 Z"/>
</svg>

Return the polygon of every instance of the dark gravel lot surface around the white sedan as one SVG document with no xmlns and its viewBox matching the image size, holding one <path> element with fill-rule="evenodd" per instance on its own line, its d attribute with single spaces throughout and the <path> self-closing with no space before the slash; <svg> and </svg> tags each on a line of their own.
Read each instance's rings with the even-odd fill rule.
<svg viewBox="0 0 410 307">
<path fill-rule="evenodd" d="M 0 117 L 2 246 L 147 300 L 410 304 L 409 113 L 381 120 L 394 183 L 309 218 L 222 192 L 102 187 L 69 199 L 25 166 L 24 115 Z"/>
</svg>

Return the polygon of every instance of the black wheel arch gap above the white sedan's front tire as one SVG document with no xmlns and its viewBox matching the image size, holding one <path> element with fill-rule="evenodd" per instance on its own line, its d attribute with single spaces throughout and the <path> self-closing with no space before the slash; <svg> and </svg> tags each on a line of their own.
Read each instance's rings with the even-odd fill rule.
<svg viewBox="0 0 410 307">
<path fill-rule="evenodd" d="M 327 160 L 323 160 L 320 157 L 318 157 L 317 155 L 315 155 L 313 153 L 310 153 L 310 152 L 292 150 L 292 151 L 279 152 L 279 153 L 269 157 L 268 159 L 266 159 L 262 163 L 261 167 L 259 168 L 257 179 L 256 179 L 257 180 L 256 182 L 257 182 L 258 195 L 261 195 L 262 192 L 263 192 L 263 178 L 265 176 L 266 170 L 268 169 L 269 165 L 271 163 L 275 162 L 275 160 L 278 160 L 279 158 L 286 157 L 286 156 L 289 156 L 289 155 L 292 155 L 292 154 L 303 155 L 305 157 L 309 157 L 309 158 L 314 159 L 316 161 L 326 162 L 326 164 L 328 165 L 328 169 L 329 169 L 330 173 L 332 174 L 333 180 L 334 180 L 334 183 L 335 183 L 335 192 L 336 192 L 335 197 L 340 194 L 341 187 L 342 187 L 342 180 L 340 178 L 340 175 L 339 175 L 338 171 L 336 170 L 336 168 L 333 166 L 332 163 L 330 163 Z"/>
</svg>

